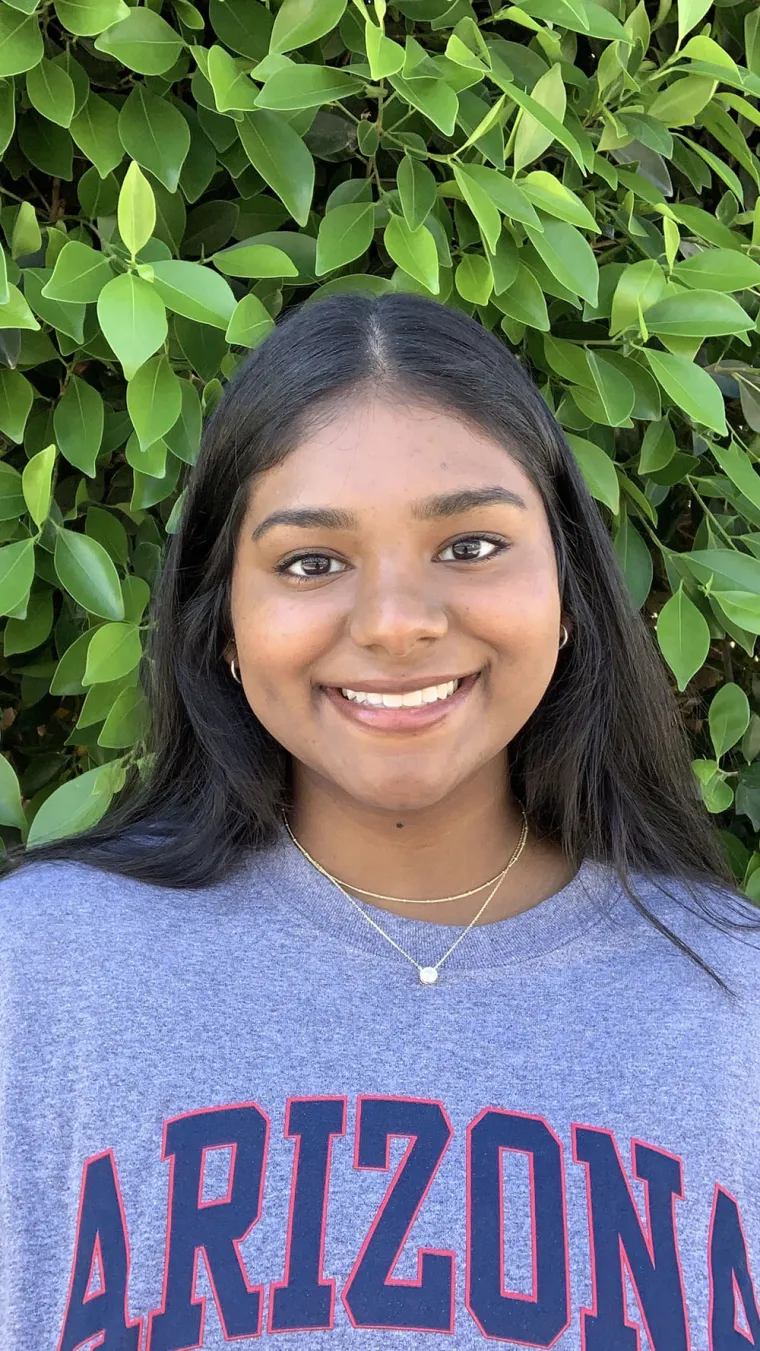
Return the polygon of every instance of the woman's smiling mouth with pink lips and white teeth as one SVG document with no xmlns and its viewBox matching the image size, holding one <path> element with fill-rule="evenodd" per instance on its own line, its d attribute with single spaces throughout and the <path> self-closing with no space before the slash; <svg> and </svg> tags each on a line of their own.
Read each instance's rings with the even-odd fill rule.
<svg viewBox="0 0 760 1351">
<path fill-rule="evenodd" d="M 400 681 L 394 689 L 381 689 L 377 682 L 373 682 L 374 689 L 371 685 L 369 689 L 325 685 L 323 694 L 344 717 L 363 727 L 396 732 L 421 731 L 455 713 L 468 698 L 478 677 L 479 671 L 435 684 L 420 681 L 412 685 Z M 425 693 L 428 697 L 423 698 Z"/>
</svg>

